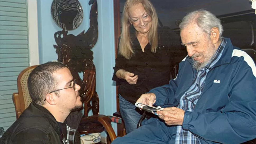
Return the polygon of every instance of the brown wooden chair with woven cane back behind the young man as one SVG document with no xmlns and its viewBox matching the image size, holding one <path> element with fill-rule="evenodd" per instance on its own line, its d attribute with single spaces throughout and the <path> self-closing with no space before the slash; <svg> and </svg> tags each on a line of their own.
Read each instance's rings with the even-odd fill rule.
<svg viewBox="0 0 256 144">
<path fill-rule="evenodd" d="M 21 113 L 30 105 L 30 103 L 32 102 L 32 99 L 29 95 L 29 91 L 27 88 L 27 79 L 29 77 L 29 74 L 31 73 L 31 71 L 36 67 L 35 66 L 30 66 L 26 69 L 24 69 L 23 71 L 21 71 L 21 73 L 18 75 L 18 79 L 17 79 L 17 87 L 18 87 L 18 93 L 13 93 L 13 103 L 15 105 L 15 111 L 16 111 L 16 118 L 18 119 L 21 115 Z M 92 124 L 90 123 L 92 122 Z M 100 123 L 103 126 L 103 130 L 101 129 L 91 129 L 90 131 L 79 131 L 80 134 L 87 134 L 87 133 L 95 133 L 95 132 L 99 132 L 99 131 L 104 131 L 104 129 L 106 129 L 107 134 L 108 134 L 108 138 L 110 138 L 110 142 L 112 142 L 115 138 L 115 132 L 113 130 L 113 128 L 111 127 L 111 119 L 109 119 L 107 116 L 104 115 L 93 115 L 93 116 L 88 116 L 88 117 L 84 117 L 80 123 L 79 127 L 86 127 L 89 126 L 90 128 L 93 127 L 93 124 L 96 123 L 96 125 L 98 123 Z M 96 126 L 97 127 L 97 126 Z"/>
</svg>

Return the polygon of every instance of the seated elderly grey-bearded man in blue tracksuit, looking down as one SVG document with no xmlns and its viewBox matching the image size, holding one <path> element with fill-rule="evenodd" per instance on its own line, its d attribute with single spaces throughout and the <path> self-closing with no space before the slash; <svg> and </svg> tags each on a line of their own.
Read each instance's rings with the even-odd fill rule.
<svg viewBox="0 0 256 144">
<path fill-rule="evenodd" d="M 221 37 L 220 20 L 208 11 L 189 13 L 180 29 L 188 56 L 179 64 L 178 76 L 137 101 L 166 108 L 157 112 L 159 119 L 150 118 L 113 144 L 236 144 L 256 137 L 251 57 Z"/>
</svg>

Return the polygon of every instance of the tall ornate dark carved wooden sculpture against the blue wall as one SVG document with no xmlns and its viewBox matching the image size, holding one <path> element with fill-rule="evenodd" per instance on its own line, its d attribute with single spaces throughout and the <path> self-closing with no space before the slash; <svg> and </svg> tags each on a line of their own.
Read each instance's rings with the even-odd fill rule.
<svg viewBox="0 0 256 144">
<path fill-rule="evenodd" d="M 84 102 L 84 116 L 92 109 L 93 114 L 99 114 L 99 98 L 96 92 L 96 70 L 93 64 L 91 50 L 98 40 L 98 4 L 97 0 L 89 0 L 90 27 L 77 36 L 62 30 L 54 33 L 57 45 L 54 45 L 58 54 L 58 61 L 66 65 L 73 77 L 80 85 L 80 97 Z M 83 73 L 81 79 L 79 73 Z M 95 128 L 94 128 L 95 129 Z"/>
</svg>

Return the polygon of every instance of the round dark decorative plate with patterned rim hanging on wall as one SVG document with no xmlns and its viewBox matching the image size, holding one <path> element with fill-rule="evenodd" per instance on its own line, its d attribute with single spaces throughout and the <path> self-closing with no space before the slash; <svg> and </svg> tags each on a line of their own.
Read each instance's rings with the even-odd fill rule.
<svg viewBox="0 0 256 144">
<path fill-rule="evenodd" d="M 83 21 L 83 8 L 78 0 L 53 0 L 51 16 L 64 30 L 74 30 Z"/>
</svg>

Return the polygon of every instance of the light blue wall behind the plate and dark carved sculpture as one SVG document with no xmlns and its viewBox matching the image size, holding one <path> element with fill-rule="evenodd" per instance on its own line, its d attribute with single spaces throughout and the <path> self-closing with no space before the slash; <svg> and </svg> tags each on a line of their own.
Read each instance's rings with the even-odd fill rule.
<svg viewBox="0 0 256 144">
<path fill-rule="evenodd" d="M 54 33 L 60 31 L 53 21 L 50 13 L 53 0 L 37 0 L 38 9 L 38 34 L 39 34 L 39 61 L 40 64 L 57 60 L 58 56 L 53 47 Z M 78 35 L 89 27 L 89 0 L 79 0 L 84 11 L 82 24 L 70 34 Z M 98 41 L 93 51 L 93 62 L 96 67 L 96 92 L 99 95 L 100 114 L 112 115 L 116 112 L 116 89 L 113 85 L 112 75 L 115 65 L 114 45 L 114 18 L 113 1 L 98 0 Z M 116 125 L 112 124 L 115 131 Z"/>
</svg>

